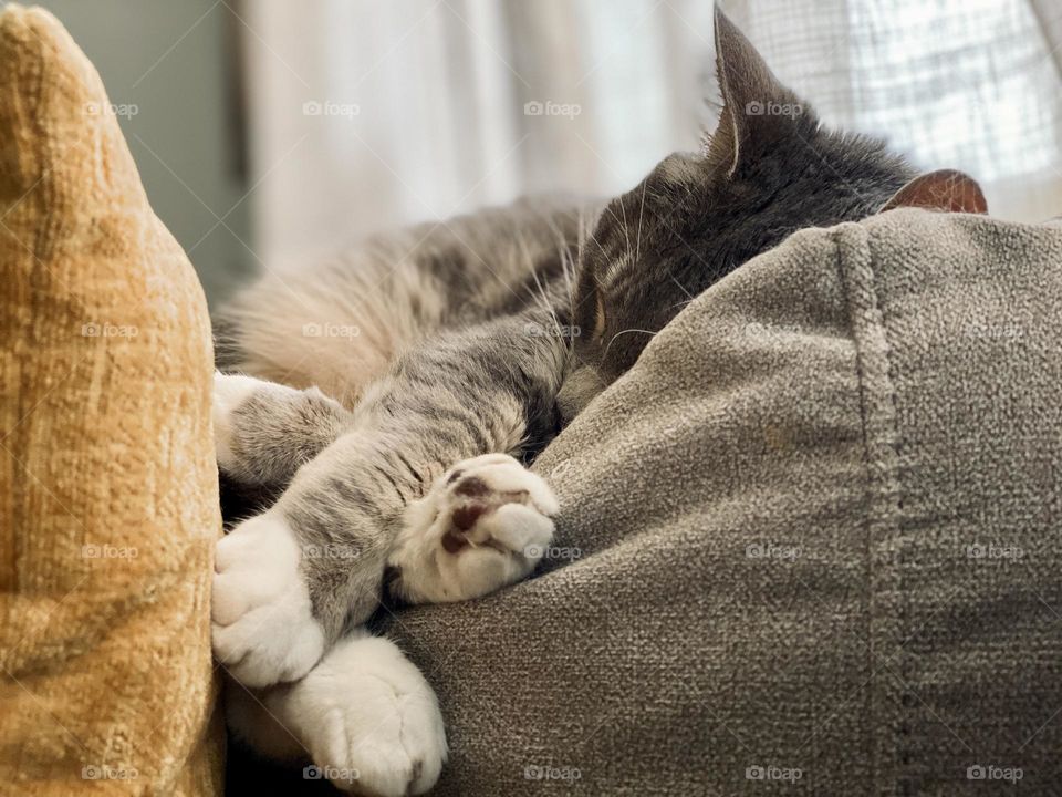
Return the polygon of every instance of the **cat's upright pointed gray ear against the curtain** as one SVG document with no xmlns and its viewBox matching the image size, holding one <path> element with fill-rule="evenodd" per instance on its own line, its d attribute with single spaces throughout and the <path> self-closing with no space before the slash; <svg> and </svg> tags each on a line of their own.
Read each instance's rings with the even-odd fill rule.
<svg viewBox="0 0 1062 797">
<path fill-rule="evenodd" d="M 731 176 L 773 142 L 792 135 L 812 111 L 774 76 L 763 56 L 716 3 L 716 72 L 722 94 L 719 126 L 705 142 L 714 169 Z"/>
</svg>

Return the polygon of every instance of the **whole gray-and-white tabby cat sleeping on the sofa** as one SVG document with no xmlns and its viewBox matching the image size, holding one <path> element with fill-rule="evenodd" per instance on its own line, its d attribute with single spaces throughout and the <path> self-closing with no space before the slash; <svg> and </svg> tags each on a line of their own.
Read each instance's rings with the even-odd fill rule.
<svg viewBox="0 0 1062 797">
<path fill-rule="evenodd" d="M 418 227 L 264 277 L 220 313 L 218 464 L 275 496 L 219 541 L 214 583 L 215 654 L 253 690 L 229 690 L 228 717 L 252 746 L 309 754 L 341 788 L 430 788 L 442 720 L 364 628 L 382 597 L 528 576 L 558 503 L 523 463 L 690 297 L 794 230 L 969 189 L 908 184 L 882 144 L 822 127 L 718 10 L 716 50 L 718 128 L 627 194 Z"/>
</svg>

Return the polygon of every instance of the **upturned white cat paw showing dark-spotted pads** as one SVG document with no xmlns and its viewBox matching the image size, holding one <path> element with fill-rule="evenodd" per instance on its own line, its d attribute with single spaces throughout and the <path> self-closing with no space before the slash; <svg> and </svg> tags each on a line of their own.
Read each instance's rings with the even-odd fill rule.
<svg viewBox="0 0 1062 797">
<path fill-rule="evenodd" d="M 506 454 L 466 459 L 412 505 L 388 563 L 415 603 L 466 600 L 530 573 L 553 539 L 553 491 Z"/>
</svg>

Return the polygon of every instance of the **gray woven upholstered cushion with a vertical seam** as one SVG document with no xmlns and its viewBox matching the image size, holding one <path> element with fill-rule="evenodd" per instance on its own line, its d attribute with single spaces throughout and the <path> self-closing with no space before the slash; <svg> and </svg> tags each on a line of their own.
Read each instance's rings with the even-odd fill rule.
<svg viewBox="0 0 1062 797">
<path fill-rule="evenodd" d="M 919 210 L 691 302 L 537 464 L 544 572 L 391 623 L 438 794 L 1062 788 L 1060 308 L 1062 229 Z"/>
</svg>

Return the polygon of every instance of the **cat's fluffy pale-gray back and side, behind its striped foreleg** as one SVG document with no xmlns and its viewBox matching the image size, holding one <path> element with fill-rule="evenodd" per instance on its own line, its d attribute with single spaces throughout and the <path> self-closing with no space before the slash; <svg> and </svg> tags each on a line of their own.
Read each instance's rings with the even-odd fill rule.
<svg viewBox="0 0 1062 797">
<path fill-rule="evenodd" d="M 598 209 L 576 197 L 527 197 L 262 273 L 215 314 L 218 366 L 356 403 L 426 337 L 541 302 L 568 280 Z"/>
</svg>

